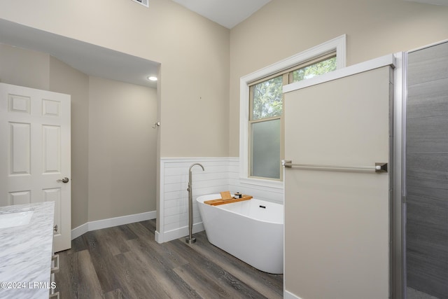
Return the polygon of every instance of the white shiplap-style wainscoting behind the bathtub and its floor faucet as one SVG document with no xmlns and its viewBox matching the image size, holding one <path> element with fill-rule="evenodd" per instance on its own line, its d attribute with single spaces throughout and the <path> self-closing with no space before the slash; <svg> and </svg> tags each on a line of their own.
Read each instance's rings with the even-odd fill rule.
<svg viewBox="0 0 448 299">
<path fill-rule="evenodd" d="M 193 163 L 193 233 L 204 230 L 195 198 L 200 195 L 241 192 L 262 200 L 283 202 L 283 189 L 267 188 L 239 181 L 239 158 L 162 158 L 160 159 L 160 232 L 158 242 L 188 235 L 188 169 Z"/>
</svg>

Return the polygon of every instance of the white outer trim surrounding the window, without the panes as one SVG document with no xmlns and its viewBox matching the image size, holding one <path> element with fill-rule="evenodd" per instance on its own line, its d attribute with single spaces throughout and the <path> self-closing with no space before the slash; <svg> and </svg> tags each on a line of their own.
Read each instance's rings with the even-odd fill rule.
<svg viewBox="0 0 448 299">
<path fill-rule="evenodd" d="M 338 36 L 335 39 L 321 43 L 301 53 L 293 55 L 267 67 L 264 67 L 251 74 L 243 76 L 239 81 L 239 180 L 240 183 L 247 183 L 258 186 L 272 188 L 283 188 L 283 181 L 262 179 L 249 176 L 249 90 L 251 83 L 262 78 L 272 76 L 280 71 L 285 71 L 297 64 L 302 64 L 316 57 L 335 52 L 337 57 L 336 69 L 346 66 L 346 35 Z M 282 176 L 281 176 L 282 177 Z"/>
</svg>

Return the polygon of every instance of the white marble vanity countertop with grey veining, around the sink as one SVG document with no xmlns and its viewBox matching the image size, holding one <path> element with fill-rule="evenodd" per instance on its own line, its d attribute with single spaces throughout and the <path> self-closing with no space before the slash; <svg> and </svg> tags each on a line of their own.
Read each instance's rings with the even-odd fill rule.
<svg viewBox="0 0 448 299">
<path fill-rule="evenodd" d="M 28 224 L 0 228 L 0 298 L 46 298 L 50 293 L 54 202 L 0 207 L 0 214 L 33 210 Z"/>
</svg>

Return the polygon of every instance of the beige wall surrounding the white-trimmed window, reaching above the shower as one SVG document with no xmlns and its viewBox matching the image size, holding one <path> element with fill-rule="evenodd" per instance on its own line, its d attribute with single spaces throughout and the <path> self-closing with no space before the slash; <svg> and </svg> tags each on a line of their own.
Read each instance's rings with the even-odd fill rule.
<svg viewBox="0 0 448 299">
<path fill-rule="evenodd" d="M 342 34 L 347 65 L 425 46 L 448 39 L 447 16 L 448 6 L 402 0 L 272 0 L 230 32 L 230 156 L 239 155 L 241 76 Z"/>
</svg>

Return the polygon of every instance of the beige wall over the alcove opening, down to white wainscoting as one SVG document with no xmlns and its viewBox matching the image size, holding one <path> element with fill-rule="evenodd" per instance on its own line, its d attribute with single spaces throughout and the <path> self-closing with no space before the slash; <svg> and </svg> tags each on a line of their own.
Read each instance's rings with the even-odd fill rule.
<svg viewBox="0 0 448 299">
<path fill-rule="evenodd" d="M 167 0 L 8 1 L 0 18 L 160 62 L 161 156 L 228 156 L 228 29 Z"/>
</svg>

